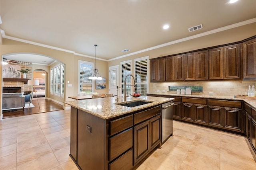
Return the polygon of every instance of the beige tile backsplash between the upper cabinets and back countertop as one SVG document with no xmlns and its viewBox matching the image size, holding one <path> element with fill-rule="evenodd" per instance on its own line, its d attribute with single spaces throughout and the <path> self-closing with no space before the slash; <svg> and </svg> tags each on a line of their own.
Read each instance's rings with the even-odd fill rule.
<svg viewBox="0 0 256 170">
<path fill-rule="evenodd" d="M 169 91 L 169 86 L 202 86 L 203 92 L 195 92 L 192 94 L 209 95 L 213 92 L 215 96 L 234 96 L 245 95 L 249 85 L 256 86 L 256 80 L 227 80 L 227 81 L 190 81 L 190 82 L 164 82 L 150 83 L 149 93 L 176 93 Z"/>
</svg>

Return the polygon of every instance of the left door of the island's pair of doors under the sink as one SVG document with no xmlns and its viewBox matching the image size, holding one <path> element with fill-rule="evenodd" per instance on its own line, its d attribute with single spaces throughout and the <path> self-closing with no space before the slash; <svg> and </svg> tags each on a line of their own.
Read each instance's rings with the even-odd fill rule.
<svg viewBox="0 0 256 170">
<path fill-rule="evenodd" d="M 138 163 L 150 150 L 149 120 L 134 127 L 134 164 Z"/>
</svg>

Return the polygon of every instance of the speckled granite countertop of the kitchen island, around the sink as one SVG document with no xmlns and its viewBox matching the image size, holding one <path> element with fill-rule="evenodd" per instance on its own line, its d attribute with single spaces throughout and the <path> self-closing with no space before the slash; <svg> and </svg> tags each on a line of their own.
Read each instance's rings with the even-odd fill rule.
<svg viewBox="0 0 256 170">
<path fill-rule="evenodd" d="M 119 96 L 118 104 L 124 103 L 124 98 Z M 149 101 L 152 103 L 144 104 L 136 107 L 126 107 L 117 105 L 115 101 L 116 97 L 111 98 L 98 98 L 98 99 L 86 99 L 86 100 L 76 100 L 76 101 L 68 101 L 64 102 L 70 106 L 76 107 L 82 111 L 86 111 L 92 115 L 100 117 L 102 119 L 110 119 L 119 115 L 124 115 L 126 113 L 131 113 L 134 111 L 138 111 L 140 109 L 144 109 L 151 106 L 156 106 L 159 104 L 163 104 L 166 102 L 170 102 L 174 100 L 174 98 L 160 98 L 160 97 L 152 97 L 152 96 L 140 96 L 139 98 L 128 97 L 127 102 L 132 102 L 136 100 Z"/>
</svg>

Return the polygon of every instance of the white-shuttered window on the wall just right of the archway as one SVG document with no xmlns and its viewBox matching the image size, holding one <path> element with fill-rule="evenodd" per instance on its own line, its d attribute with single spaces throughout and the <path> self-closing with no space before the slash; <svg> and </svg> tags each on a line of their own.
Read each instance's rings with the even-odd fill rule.
<svg viewBox="0 0 256 170">
<path fill-rule="evenodd" d="M 58 70 L 59 67 L 59 70 Z M 64 97 L 65 65 L 60 63 L 50 68 L 50 94 Z M 58 75 L 59 74 L 59 75 Z M 58 92 L 58 87 L 60 92 Z"/>
</svg>

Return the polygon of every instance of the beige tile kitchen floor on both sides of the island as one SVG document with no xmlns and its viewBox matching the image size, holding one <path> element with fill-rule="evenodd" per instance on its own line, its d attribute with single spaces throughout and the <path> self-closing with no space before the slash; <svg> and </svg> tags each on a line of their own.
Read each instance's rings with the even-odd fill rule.
<svg viewBox="0 0 256 170">
<path fill-rule="evenodd" d="M 0 170 L 77 170 L 69 157 L 70 110 L 0 121 Z M 138 170 L 256 170 L 242 136 L 174 121 L 174 136 Z"/>
</svg>

